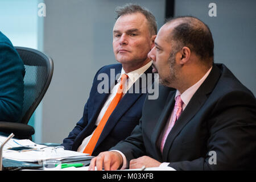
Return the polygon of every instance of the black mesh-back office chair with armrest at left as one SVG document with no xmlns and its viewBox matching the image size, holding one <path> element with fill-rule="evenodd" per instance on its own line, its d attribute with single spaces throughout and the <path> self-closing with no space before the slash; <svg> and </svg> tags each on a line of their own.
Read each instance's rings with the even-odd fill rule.
<svg viewBox="0 0 256 182">
<path fill-rule="evenodd" d="M 35 130 L 27 125 L 36 107 L 44 97 L 53 74 L 53 61 L 44 53 L 26 47 L 15 47 L 25 67 L 24 102 L 19 122 L 0 121 L 0 132 L 11 134 L 17 139 L 30 139 Z"/>
</svg>

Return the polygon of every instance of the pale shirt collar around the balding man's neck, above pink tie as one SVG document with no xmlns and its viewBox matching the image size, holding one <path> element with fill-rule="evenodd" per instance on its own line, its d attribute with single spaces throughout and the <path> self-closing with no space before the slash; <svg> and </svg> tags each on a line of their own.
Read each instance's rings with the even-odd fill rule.
<svg viewBox="0 0 256 182">
<path fill-rule="evenodd" d="M 196 84 L 192 85 L 191 87 L 189 87 L 187 90 L 185 90 L 185 92 L 183 92 L 182 94 L 180 94 L 179 90 L 176 91 L 175 94 L 175 101 L 176 101 L 176 97 L 180 95 L 181 100 L 183 101 L 183 110 L 185 109 L 185 107 L 188 105 L 188 102 L 191 100 L 191 98 L 193 97 L 193 95 L 196 93 L 196 90 L 199 89 L 199 87 L 201 86 L 201 84 L 203 84 L 203 82 L 205 81 L 205 79 L 208 77 L 210 71 L 212 70 L 212 67 L 210 67 L 210 69 L 207 71 L 207 73 L 205 73 L 205 75 L 196 82 Z"/>
</svg>

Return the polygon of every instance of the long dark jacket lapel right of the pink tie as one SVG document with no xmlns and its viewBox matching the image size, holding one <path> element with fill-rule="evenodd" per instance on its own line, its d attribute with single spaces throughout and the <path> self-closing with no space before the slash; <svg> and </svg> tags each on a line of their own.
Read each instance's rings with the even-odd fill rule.
<svg viewBox="0 0 256 182">
<path fill-rule="evenodd" d="M 204 102 L 207 100 L 207 95 L 212 92 L 218 78 L 220 77 L 220 71 L 213 64 L 212 71 L 210 72 L 209 76 L 205 79 L 203 84 L 199 87 L 196 93 L 193 95 L 191 100 L 189 101 L 188 105 L 186 106 L 185 110 L 181 113 L 179 119 L 175 122 L 174 127 L 170 131 L 166 139 L 166 143 L 164 144 L 163 148 L 163 160 L 167 161 L 169 150 L 171 148 L 172 142 L 183 129 L 183 127 L 191 121 L 192 117 L 200 110 L 201 106 L 204 105 Z"/>
</svg>

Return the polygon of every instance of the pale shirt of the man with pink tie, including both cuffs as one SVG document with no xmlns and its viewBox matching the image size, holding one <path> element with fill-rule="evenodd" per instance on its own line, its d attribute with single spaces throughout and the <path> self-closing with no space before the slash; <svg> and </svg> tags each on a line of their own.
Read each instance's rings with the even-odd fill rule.
<svg viewBox="0 0 256 182">
<path fill-rule="evenodd" d="M 176 94 L 175 94 L 175 100 L 176 100 L 176 97 L 180 95 L 181 97 L 181 100 L 183 101 L 183 105 L 182 105 L 182 110 L 184 111 L 185 110 L 185 107 L 188 105 L 188 102 L 191 100 L 191 98 L 193 97 L 193 95 L 195 94 L 196 90 L 199 89 L 199 87 L 201 86 L 201 84 L 203 84 L 203 82 L 205 81 L 205 79 L 208 77 L 210 71 L 212 70 L 212 67 L 207 71 L 207 73 L 205 73 L 205 75 L 199 80 L 196 82 L 196 84 L 192 85 L 191 87 L 189 87 L 187 90 L 185 90 L 182 94 L 180 94 L 179 90 L 176 91 Z M 181 113 L 182 114 L 182 113 Z M 172 114 L 170 115 L 170 117 L 168 118 L 168 123 L 166 123 L 166 127 L 164 129 L 164 132 L 167 131 L 168 129 L 168 126 L 170 125 L 171 121 L 172 121 L 172 117 L 174 116 L 174 110 L 172 110 Z M 163 133 L 164 133 L 163 132 Z M 162 135 L 163 135 L 162 133 Z M 158 146 L 160 146 L 160 142 L 162 140 L 162 137 L 163 136 L 160 136 L 159 138 L 159 141 L 158 141 Z M 160 148 L 160 147 L 159 147 Z M 117 150 L 115 150 L 117 151 Z M 126 157 L 125 155 L 121 152 L 121 151 L 117 151 L 119 152 L 119 154 L 122 155 L 122 158 L 123 158 L 123 166 L 121 169 L 125 169 L 127 168 L 127 160 L 126 160 Z M 167 162 L 164 162 L 162 164 L 160 164 L 159 167 L 167 167 L 170 163 L 167 163 Z"/>
</svg>

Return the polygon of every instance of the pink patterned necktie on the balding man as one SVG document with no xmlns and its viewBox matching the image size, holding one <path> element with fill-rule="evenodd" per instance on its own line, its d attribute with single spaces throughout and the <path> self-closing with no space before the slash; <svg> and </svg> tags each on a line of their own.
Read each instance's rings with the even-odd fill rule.
<svg viewBox="0 0 256 182">
<path fill-rule="evenodd" d="M 168 126 L 168 129 L 166 131 L 166 133 L 163 135 L 161 144 L 160 144 L 160 150 L 163 153 L 163 147 L 164 147 L 164 143 L 166 143 L 166 139 L 168 134 L 170 133 L 172 127 L 174 127 L 175 122 L 177 121 L 177 119 L 179 119 L 180 114 L 182 112 L 182 105 L 183 105 L 183 101 L 180 98 L 180 95 L 176 97 L 176 101 L 175 101 L 175 106 L 174 106 L 174 117 L 172 117 L 172 121 Z"/>
</svg>

